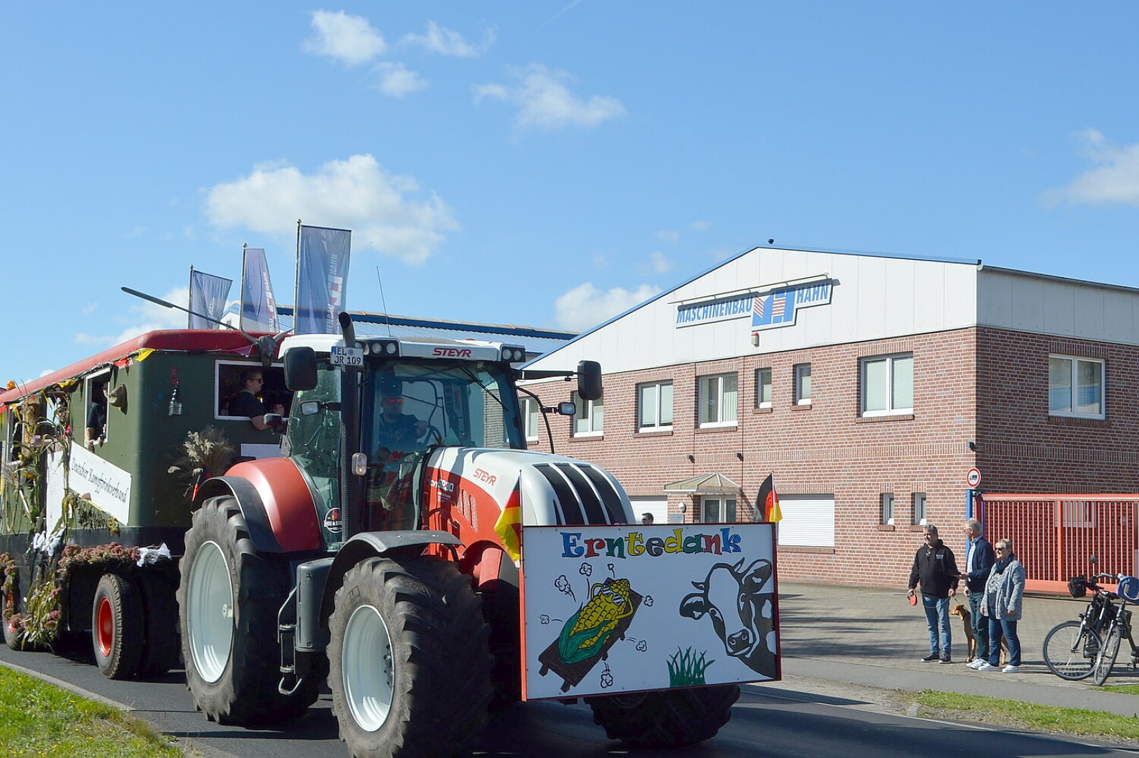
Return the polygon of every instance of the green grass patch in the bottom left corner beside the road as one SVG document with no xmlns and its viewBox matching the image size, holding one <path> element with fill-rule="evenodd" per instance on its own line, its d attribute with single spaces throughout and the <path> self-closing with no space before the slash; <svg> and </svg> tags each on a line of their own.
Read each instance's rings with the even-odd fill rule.
<svg viewBox="0 0 1139 758">
<path fill-rule="evenodd" d="M 181 755 L 146 722 L 0 666 L 0 756 Z"/>
</svg>

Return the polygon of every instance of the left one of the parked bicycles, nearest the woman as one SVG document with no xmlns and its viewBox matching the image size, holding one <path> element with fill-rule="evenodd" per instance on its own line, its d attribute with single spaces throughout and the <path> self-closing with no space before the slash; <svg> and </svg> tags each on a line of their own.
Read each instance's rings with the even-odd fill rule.
<svg viewBox="0 0 1139 758">
<path fill-rule="evenodd" d="M 1091 579 L 1082 574 L 1068 579 L 1072 597 L 1085 597 L 1089 589 L 1092 596 L 1079 621 L 1058 623 L 1044 636 L 1044 665 L 1062 679 L 1083 679 L 1096 668 L 1103 646 L 1100 635 L 1116 614 L 1115 593 L 1107 592 L 1096 580 L 1115 578 L 1109 573 L 1097 573 Z"/>
</svg>

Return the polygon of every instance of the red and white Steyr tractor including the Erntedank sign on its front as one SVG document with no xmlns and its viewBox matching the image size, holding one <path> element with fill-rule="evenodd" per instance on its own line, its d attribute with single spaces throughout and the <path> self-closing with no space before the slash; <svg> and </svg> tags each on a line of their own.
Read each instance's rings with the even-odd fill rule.
<svg viewBox="0 0 1139 758">
<path fill-rule="evenodd" d="M 678 747 L 779 678 L 772 524 L 631 525 L 612 474 L 525 449 L 521 347 L 339 320 L 281 344 L 287 455 L 195 496 L 179 623 L 207 719 L 278 725 L 327 679 L 358 758 L 468 755 L 517 699 Z M 597 364 L 576 380 L 600 397 Z"/>
</svg>

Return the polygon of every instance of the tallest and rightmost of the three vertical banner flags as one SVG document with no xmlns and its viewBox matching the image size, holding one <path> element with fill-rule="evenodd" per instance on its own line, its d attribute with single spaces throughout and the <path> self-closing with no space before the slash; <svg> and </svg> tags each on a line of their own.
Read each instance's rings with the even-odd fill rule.
<svg viewBox="0 0 1139 758">
<path fill-rule="evenodd" d="M 337 334 L 344 310 L 352 233 L 301 227 L 296 248 L 296 299 L 293 334 Z"/>
</svg>

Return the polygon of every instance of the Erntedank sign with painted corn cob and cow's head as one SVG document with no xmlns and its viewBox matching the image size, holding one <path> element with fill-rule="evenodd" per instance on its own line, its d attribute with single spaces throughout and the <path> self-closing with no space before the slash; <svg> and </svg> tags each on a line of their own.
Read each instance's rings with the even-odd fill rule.
<svg viewBox="0 0 1139 758">
<path fill-rule="evenodd" d="M 523 527 L 527 700 L 779 678 L 769 523 Z"/>
</svg>

